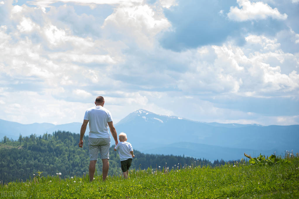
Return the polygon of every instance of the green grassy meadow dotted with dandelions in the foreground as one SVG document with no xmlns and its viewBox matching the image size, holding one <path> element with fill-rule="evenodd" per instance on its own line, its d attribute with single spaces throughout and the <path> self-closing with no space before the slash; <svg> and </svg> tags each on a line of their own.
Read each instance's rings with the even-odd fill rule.
<svg viewBox="0 0 299 199">
<path fill-rule="evenodd" d="M 299 198 L 298 157 L 273 165 L 184 166 L 179 170 L 131 170 L 129 179 L 96 176 L 35 177 L 1 184 L 2 198 Z M 36 174 L 37 175 L 37 174 Z M 51 182 L 50 182 L 51 181 Z M 76 181 L 76 182 L 74 182 Z"/>
</svg>

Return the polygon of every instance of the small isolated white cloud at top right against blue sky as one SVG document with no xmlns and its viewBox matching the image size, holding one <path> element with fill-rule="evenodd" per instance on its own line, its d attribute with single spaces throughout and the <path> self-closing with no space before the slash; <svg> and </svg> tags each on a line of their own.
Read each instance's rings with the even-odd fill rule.
<svg viewBox="0 0 299 199">
<path fill-rule="evenodd" d="M 263 2 L 251 2 L 249 0 L 237 0 L 239 7 L 231 7 L 228 18 L 234 21 L 260 20 L 271 17 L 278 20 L 286 20 L 286 13 L 280 14 L 277 8 L 271 8 Z"/>
</svg>

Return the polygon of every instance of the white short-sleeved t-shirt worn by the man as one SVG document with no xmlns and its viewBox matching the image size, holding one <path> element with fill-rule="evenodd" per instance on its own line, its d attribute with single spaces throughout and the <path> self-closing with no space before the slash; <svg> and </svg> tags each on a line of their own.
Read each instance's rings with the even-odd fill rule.
<svg viewBox="0 0 299 199">
<path fill-rule="evenodd" d="M 102 106 L 86 110 L 84 120 L 89 120 L 89 138 L 110 138 L 107 122 L 112 122 L 109 110 Z"/>
</svg>

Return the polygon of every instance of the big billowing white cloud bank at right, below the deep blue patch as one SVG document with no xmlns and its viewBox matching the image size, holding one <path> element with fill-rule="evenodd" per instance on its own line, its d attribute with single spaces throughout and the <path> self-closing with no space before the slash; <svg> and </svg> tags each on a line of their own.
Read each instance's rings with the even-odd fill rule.
<svg viewBox="0 0 299 199">
<path fill-rule="evenodd" d="M 194 56 L 192 62 L 187 62 L 189 70 L 181 73 L 177 82 L 178 87 L 189 93 L 239 93 L 246 96 L 248 94 L 268 96 L 275 92 L 295 92 L 299 89 L 299 77 L 296 71 L 289 74 L 281 72 L 281 67 L 284 68 L 289 64 L 286 60 L 292 60 L 292 63 L 296 64 L 296 55 L 276 50 L 280 45 L 275 39 L 255 35 L 245 39 L 248 43 L 243 48 L 230 43 L 213 46 L 208 54 L 210 56 L 216 54 L 216 58 L 210 62 L 201 58 L 200 54 L 197 54 L 198 57 Z M 248 47 L 252 44 L 260 45 L 257 48 L 262 51 L 248 53 Z M 269 47 L 269 44 L 272 47 Z M 202 50 L 196 51 L 202 52 Z M 185 61 L 189 59 L 184 56 Z"/>
</svg>

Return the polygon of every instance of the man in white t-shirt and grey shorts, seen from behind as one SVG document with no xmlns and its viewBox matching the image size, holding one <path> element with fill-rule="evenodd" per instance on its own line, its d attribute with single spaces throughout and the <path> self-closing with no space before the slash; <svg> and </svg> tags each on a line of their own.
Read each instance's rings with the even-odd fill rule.
<svg viewBox="0 0 299 199">
<path fill-rule="evenodd" d="M 89 181 L 93 181 L 95 164 L 97 163 L 97 156 L 100 150 L 101 158 L 103 161 L 103 181 L 106 180 L 109 170 L 109 148 L 110 148 L 110 132 L 115 140 L 115 145 L 118 144 L 117 133 L 113 126 L 112 116 L 109 110 L 105 109 L 104 98 L 98 96 L 94 102 L 95 107 L 86 110 L 84 121 L 80 131 L 79 147 L 83 146 L 83 137 L 89 122 Z"/>
</svg>

